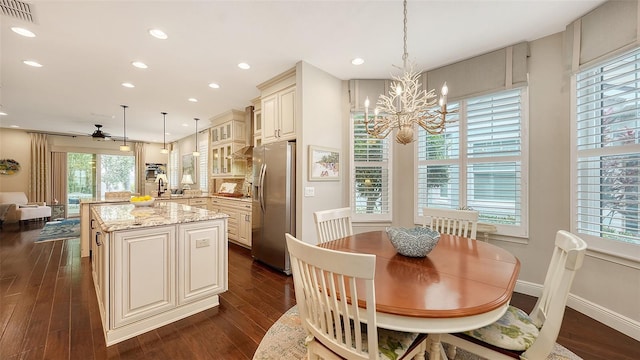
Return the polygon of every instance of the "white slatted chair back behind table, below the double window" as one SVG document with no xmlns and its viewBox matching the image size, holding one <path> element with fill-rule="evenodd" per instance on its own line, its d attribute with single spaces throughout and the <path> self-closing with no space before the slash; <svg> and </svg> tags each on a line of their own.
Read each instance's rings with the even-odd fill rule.
<svg viewBox="0 0 640 360">
<path fill-rule="evenodd" d="M 464 236 L 470 239 L 476 239 L 478 215 L 475 210 L 422 208 L 423 226 L 430 227 L 441 234 Z"/>
</svg>

